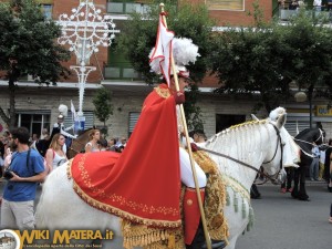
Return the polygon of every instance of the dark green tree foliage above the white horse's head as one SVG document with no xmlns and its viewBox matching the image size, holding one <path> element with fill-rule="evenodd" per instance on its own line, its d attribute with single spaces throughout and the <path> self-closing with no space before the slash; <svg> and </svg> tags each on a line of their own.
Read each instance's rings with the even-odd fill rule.
<svg viewBox="0 0 332 249">
<path fill-rule="evenodd" d="M 210 60 L 221 84 L 218 92 L 256 94 L 256 107 L 270 112 L 292 97 L 291 87 L 328 84 L 332 37 L 323 23 L 302 10 L 287 25 L 257 21 L 216 35 Z"/>
</svg>

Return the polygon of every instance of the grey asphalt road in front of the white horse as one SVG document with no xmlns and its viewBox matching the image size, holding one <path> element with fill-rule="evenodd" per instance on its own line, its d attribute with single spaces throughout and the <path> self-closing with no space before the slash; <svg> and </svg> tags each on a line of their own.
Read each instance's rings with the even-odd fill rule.
<svg viewBox="0 0 332 249">
<path fill-rule="evenodd" d="M 0 193 L 2 188 L 0 183 Z M 332 194 L 325 184 L 309 181 L 311 201 L 292 199 L 278 186 L 259 186 L 259 190 L 262 198 L 252 200 L 255 226 L 239 237 L 237 249 L 332 249 L 332 225 L 328 222 Z"/>
</svg>

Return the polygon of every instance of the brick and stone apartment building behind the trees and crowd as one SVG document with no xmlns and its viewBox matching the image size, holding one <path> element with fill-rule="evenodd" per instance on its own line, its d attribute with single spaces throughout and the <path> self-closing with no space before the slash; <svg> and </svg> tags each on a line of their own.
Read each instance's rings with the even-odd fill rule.
<svg viewBox="0 0 332 249">
<path fill-rule="evenodd" d="M 84 0 L 81 0 L 84 2 Z M 59 20 L 62 13 L 71 13 L 73 8 L 77 8 L 79 0 L 39 0 L 48 18 Z M 113 22 L 121 27 L 128 19 L 133 11 L 145 11 L 148 8 L 146 0 L 90 0 L 96 9 L 101 10 L 101 15 L 110 15 Z M 197 1 L 193 1 L 197 2 Z M 227 25 L 246 25 L 252 22 L 248 17 L 248 11 L 252 11 L 255 0 L 205 0 L 209 8 L 210 15 L 218 20 L 218 28 Z M 278 8 L 278 1 L 260 1 L 260 7 L 264 12 L 267 20 L 272 18 L 272 13 Z M 121 30 L 120 30 L 121 31 Z M 115 34 L 116 35 L 116 34 Z M 111 45 L 112 48 L 112 45 Z M 141 80 L 139 73 L 135 72 L 131 64 L 122 56 L 114 54 L 111 48 L 100 46 L 100 51 L 93 53 L 87 62 L 96 70 L 91 72 L 86 80 L 84 93 L 83 112 L 86 118 L 85 128 L 93 125 L 103 124 L 93 114 L 92 104 L 95 90 L 102 85 L 112 90 L 112 103 L 114 106 L 113 115 L 106 122 L 110 137 L 129 136 L 135 123 L 139 116 L 141 107 L 145 96 L 152 91 Z M 73 54 L 71 60 L 65 63 L 66 66 L 76 65 L 77 60 Z M 70 79 L 65 82 L 59 82 L 58 86 L 39 87 L 27 81 L 18 82 L 20 90 L 17 92 L 15 108 L 18 113 L 18 123 L 30 128 L 31 133 L 40 134 L 43 127 L 51 128 L 59 115 L 60 104 L 69 106 L 71 101 L 75 107 L 79 106 L 79 83 L 75 72 L 72 72 Z M 250 118 L 255 97 L 235 100 L 229 95 L 216 95 L 212 90 L 217 87 L 217 81 L 214 77 L 206 77 L 199 84 L 200 97 L 198 105 L 201 108 L 204 128 L 208 136 L 237 123 Z M 0 105 L 7 108 L 9 106 L 7 82 L 0 81 Z M 300 125 L 300 129 L 308 126 L 309 111 L 307 104 L 291 103 L 286 106 L 289 112 L 289 127 L 294 131 L 294 124 Z M 322 111 L 324 102 L 318 103 L 318 115 L 314 115 L 313 123 L 321 122 L 325 129 L 330 127 L 330 113 Z M 261 111 L 258 116 L 266 116 Z M 332 114 L 331 114 L 332 115 Z M 0 123 L 3 123 L 0 118 Z M 65 118 L 65 124 L 71 125 L 71 115 Z M 3 125 L 4 126 L 4 125 Z"/>
</svg>

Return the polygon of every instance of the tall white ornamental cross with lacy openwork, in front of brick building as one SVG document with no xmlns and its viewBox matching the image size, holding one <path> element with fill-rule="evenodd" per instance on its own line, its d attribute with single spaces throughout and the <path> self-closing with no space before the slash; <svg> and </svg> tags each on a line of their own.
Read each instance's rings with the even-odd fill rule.
<svg viewBox="0 0 332 249">
<path fill-rule="evenodd" d="M 110 46 L 115 33 L 115 23 L 107 17 L 101 15 L 101 10 L 95 9 L 93 0 L 81 0 L 76 9 L 72 9 L 72 14 L 60 14 L 59 22 L 62 27 L 62 37 L 58 39 L 61 45 L 69 44 L 70 51 L 74 52 L 80 65 L 71 66 L 79 77 L 80 108 L 82 115 L 84 89 L 87 74 L 94 71 L 94 66 L 86 66 L 92 53 L 98 52 L 98 46 Z"/>
</svg>

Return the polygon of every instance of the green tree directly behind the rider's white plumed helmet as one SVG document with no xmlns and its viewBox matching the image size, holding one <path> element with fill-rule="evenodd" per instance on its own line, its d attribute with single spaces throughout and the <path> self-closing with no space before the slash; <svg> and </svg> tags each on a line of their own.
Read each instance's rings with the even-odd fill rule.
<svg viewBox="0 0 332 249">
<path fill-rule="evenodd" d="M 167 27 L 175 32 L 176 37 L 189 38 L 198 45 L 200 58 L 195 64 L 187 68 L 190 77 L 199 84 L 205 76 L 209 61 L 207 54 L 211 52 L 212 37 L 211 28 L 215 21 L 209 17 L 205 4 L 191 4 L 183 2 L 177 6 L 174 1 L 165 1 L 167 15 Z M 146 83 L 157 83 L 159 75 L 151 72 L 148 54 L 156 43 L 156 34 L 159 18 L 159 4 L 157 1 L 151 4 L 147 13 L 134 13 L 131 20 L 126 21 L 122 33 L 117 40 L 118 49 L 123 50 L 133 68 L 141 72 Z M 197 91 L 197 87 L 195 89 Z M 187 95 L 187 94 L 186 94 Z M 196 106 L 198 94 L 193 93 L 185 105 L 185 113 L 190 128 L 201 128 L 200 108 Z M 190 118 L 195 118 L 190 120 Z"/>
</svg>

